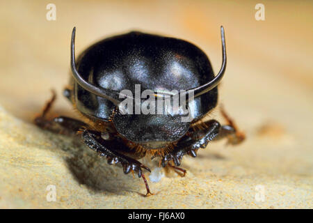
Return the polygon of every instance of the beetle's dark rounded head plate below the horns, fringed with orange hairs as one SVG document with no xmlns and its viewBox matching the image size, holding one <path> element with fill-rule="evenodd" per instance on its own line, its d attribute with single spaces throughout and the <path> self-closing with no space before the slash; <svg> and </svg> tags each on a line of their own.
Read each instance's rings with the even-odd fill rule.
<svg viewBox="0 0 313 223">
<path fill-rule="evenodd" d="M 168 109 L 166 106 L 161 107 L 161 112 L 158 109 L 154 107 L 152 114 L 122 114 L 116 109 L 112 121 L 118 133 L 127 140 L 148 149 L 162 148 L 183 137 L 191 123 L 188 110 Z"/>
</svg>

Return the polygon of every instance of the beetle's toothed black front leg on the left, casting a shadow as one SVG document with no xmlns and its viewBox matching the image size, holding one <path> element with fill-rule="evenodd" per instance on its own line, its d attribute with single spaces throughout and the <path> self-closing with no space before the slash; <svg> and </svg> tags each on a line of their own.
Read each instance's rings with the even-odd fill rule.
<svg viewBox="0 0 313 223">
<path fill-rule="evenodd" d="M 122 164 L 125 174 L 129 174 L 130 171 L 136 172 L 139 178 L 143 178 L 145 188 L 147 190 L 146 195 L 152 194 L 150 192 L 149 186 L 147 185 L 147 180 L 145 179 L 145 175 L 143 174 L 142 169 L 146 169 L 150 172 L 151 170 L 148 167 L 145 167 L 145 165 L 141 164 L 141 162 L 138 162 L 131 157 L 118 153 L 118 151 L 127 150 L 125 144 L 122 144 L 122 142 L 118 139 L 105 140 L 101 137 L 101 132 L 97 132 L 94 130 L 83 130 L 81 137 L 85 144 L 89 146 L 93 151 L 96 151 L 98 155 L 106 157 L 109 164 Z"/>
</svg>

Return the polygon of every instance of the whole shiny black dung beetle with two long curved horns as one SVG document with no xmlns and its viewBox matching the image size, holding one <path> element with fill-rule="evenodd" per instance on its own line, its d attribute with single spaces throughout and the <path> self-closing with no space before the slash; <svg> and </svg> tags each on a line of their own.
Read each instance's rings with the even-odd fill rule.
<svg viewBox="0 0 313 223">
<path fill-rule="evenodd" d="M 54 93 L 42 114 L 35 118 L 35 124 L 64 134 L 79 132 L 83 142 L 106 157 L 109 164 L 120 164 L 125 174 L 131 171 L 143 178 L 146 195 L 152 193 L 143 169 L 150 169 L 138 161 L 141 157 L 157 157 L 162 167 L 172 167 L 186 174 L 186 170 L 179 168 L 184 155 L 196 157 L 198 149 L 205 148 L 212 140 L 227 138 L 230 144 L 239 144 L 245 138 L 223 109 L 227 125 L 220 125 L 216 120 L 204 120 L 217 105 L 217 86 L 226 68 L 223 26 L 220 27 L 223 63 L 216 76 L 206 54 L 195 45 L 138 31 L 101 40 L 80 54 L 76 62 L 75 32 L 74 27 L 70 62 L 72 77 L 63 94 L 83 120 L 65 116 L 47 118 L 56 98 Z M 122 111 L 122 100 L 125 97 L 136 100 L 136 95 L 134 99 L 121 92 L 128 89 L 136 93 L 138 85 L 140 93 L 150 89 L 156 98 L 161 95 L 162 100 L 166 95 L 169 98 L 177 95 L 172 93 L 174 90 L 188 90 L 184 91 L 184 96 L 188 98 L 185 109 L 192 107 L 193 112 L 188 114 L 190 119 L 182 121 L 186 113 L 170 113 L 166 109 L 157 114 Z M 140 98 L 135 104 L 143 105 L 144 102 Z"/>
</svg>

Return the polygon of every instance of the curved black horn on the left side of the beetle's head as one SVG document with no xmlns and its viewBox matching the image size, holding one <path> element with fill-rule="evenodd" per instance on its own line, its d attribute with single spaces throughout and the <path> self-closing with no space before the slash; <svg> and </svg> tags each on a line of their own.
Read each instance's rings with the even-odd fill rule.
<svg viewBox="0 0 313 223">
<path fill-rule="evenodd" d="M 121 100 L 121 99 L 119 100 L 120 93 L 118 93 L 117 91 L 110 90 L 110 89 L 102 89 L 93 84 L 90 84 L 86 82 L 86 80 L 83 79 L 83 77 L 81 77 L 81 75 L 79 74 L 76 68 L 76 63 L 75 63 L 75 32 L 76 32 L 76 27 L 74 27 L 72 31 L 72 42 L 71 42 L 71 68 L 72 68 L 72 75 L 74 79 L 83 89 L 86 89 L 87 91 L 90 91 L 91 93 L 94 93 L 95 95 L 98 95 L 102 98 L 110 100 L 116 106 L 120 105 L 120 100 Z"/>
</svg>

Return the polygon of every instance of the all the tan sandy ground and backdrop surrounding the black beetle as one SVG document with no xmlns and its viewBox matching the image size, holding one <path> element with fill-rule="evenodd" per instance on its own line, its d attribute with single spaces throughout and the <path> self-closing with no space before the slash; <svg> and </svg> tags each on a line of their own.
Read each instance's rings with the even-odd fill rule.
<svg viewBox="0 0 313 223">
<path fill-rule="evenodd" d="M 57 20 L 48 22 L 44 1 L 1 1 L 0 208 L 312 208 L 310 1 L 264 1 L 264 22 L 255 21 L 250 1 L 54 3 Z M 143 197 L 141 179 L 109 166 L 79 139 L 31 123 L 51 88 L 60 96 L 54 112 L 74 116 L 61 97 L 72 26 L 78 52 L 103 36 L 140 29 L 191 40 L 218 70 L 220 24 L 229 59 L 220 102 L 247 140 L 211 143 L 197 158 L 185 157 L 184 178 L 163 170 L 159 182 L 149 180 L 154 196 Z M 218 109 L 211 118 L 223 122 Z M 47 201 L 49 185 L 55 202 Z"/>
</svg>

